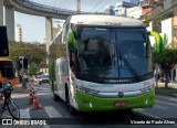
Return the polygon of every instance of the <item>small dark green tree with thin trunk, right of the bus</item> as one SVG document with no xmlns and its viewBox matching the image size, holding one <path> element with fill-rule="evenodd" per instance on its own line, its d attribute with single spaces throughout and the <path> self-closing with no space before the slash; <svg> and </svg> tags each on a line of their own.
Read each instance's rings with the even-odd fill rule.
<svg viewBox="0 0 177 128">
<path fill-rule="evenodd" d="M 160 52 L 155 52 L 154 62 L 159 64 L 165 73 L 165 88 L 168 88 L 168 76 L 177 64 L 177 49 L 164 47 Z"/>
</svg>

